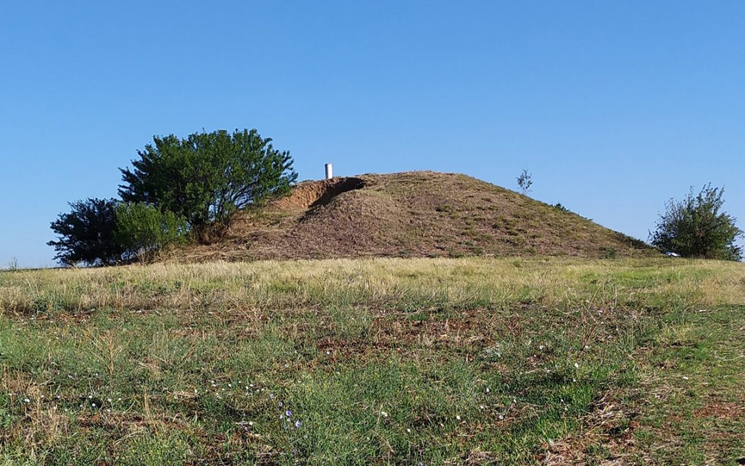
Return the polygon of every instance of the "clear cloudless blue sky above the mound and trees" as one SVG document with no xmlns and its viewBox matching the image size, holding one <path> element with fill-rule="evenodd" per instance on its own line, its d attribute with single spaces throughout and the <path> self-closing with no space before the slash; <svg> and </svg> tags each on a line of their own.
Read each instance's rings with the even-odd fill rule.
<svg viewBox="0 0 745 466">
<path fill-rule="evenodd" d="M 431 169 L 647 239 L 726 186 L 745 227 L 744 1 L 6 1 L 0 266 L 154 134 L 256 127 L 299 179 Z"/>
</svg>

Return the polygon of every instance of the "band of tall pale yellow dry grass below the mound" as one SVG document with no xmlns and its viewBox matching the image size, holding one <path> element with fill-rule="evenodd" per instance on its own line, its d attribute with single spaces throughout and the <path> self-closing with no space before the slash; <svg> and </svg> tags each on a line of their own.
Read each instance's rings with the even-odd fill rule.
<svg viewBox="0 0 745 466">
<path fill-rule="evenodd" d="M 681 259 L 329 259 L 6 271 L 4 313 L 288 306 L 745 303 L 745 265 Z"/>
</svg>

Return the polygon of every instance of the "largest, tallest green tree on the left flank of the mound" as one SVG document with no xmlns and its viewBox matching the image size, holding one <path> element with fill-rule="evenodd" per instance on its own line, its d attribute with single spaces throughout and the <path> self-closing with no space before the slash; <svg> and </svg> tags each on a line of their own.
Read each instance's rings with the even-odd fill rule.
<svg viewBox="0 0 745 466">
<path fill-rule="evenodd" d="M 183 216 L 194 230 L 224 224 L 232 212 L 286 192 L 297 179 L 289 151 L 256 130 L 154 136 L 133 169 L 120 169 L 123 201 Z"/>
</svg>

